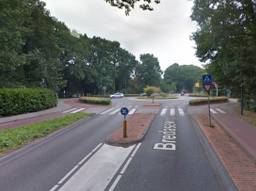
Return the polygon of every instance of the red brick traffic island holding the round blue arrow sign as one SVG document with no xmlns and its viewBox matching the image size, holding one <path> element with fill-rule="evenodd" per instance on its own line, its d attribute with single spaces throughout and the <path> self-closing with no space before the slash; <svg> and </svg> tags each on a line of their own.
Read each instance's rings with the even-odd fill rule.
<svg viewBox="0 0 256 191">
<path fill-rule="evenodd" d="M 115 130 L 106 143 L 116 146 L 130 146 L 140 142 L 146 135 L 156 113 L 135 113 L 127 119 L 127 137 L 123 137 L 123 127 Z"/>
</svg>

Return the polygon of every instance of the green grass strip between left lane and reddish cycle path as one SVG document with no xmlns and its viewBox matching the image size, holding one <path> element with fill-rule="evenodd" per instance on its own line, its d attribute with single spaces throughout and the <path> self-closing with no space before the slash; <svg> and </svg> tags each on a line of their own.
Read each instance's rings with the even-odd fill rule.
<svg viewBox="0 0 256 191">
<path fill-rule="evenodd" d="M 88 113 L 74 113 L 64 117 L 45 120 L 18 128 L 0 130 L 0 153 L 17 149 L 37 138 L 42 138 L 75 121 L 89 117 Z"/>
</svg>

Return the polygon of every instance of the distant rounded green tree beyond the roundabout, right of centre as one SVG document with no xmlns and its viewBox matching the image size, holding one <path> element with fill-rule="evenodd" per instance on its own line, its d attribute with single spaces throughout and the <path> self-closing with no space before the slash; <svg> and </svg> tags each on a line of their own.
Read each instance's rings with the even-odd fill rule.
<svg viewBox="0 0 256 191">
<path fill-rule="evenodd" d="M 169 66 L 164 72 L 164 82 L 173 90 L 178 92 L 187 90 L 192 92 L 196 81 L 200 80 L 203 74 L 203 69 L 194 65 L 179 65 L 177 63 Z M 176 86 L 174 88 L 173 86 Z"/>
</svg>

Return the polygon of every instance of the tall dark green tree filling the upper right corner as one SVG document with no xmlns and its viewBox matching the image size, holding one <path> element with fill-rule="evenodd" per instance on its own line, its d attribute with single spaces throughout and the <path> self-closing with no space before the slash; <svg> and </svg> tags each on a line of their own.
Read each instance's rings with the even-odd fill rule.
<svg viewBox="0 0 256 191">
<path fill-rule="evenodd" d="M 194 1 L 191 18 L 199 25 L 193 34 L 197 56 L 216 81 L 255 99 L 256 2 L 254 0 Z"/>
</svg>

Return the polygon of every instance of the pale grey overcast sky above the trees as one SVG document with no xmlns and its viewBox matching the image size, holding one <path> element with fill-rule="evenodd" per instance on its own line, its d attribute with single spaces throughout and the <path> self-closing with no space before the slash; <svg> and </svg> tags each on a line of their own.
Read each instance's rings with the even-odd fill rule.
<svg viewBox="0 0 256 191">
<path fill-rule="evenodd" d="M 191 0 L 161 0 L 154 11 L 124 10 L 111 7 L 104 0 L 43 0 L 51 15 L 70 29 L 119 41 L 137 58 L 151 53 L 159 59 L 162 70 L 173 63 L 201 66 L 190 40 L 196 24 L 190 20 Z"/>
</svg>

